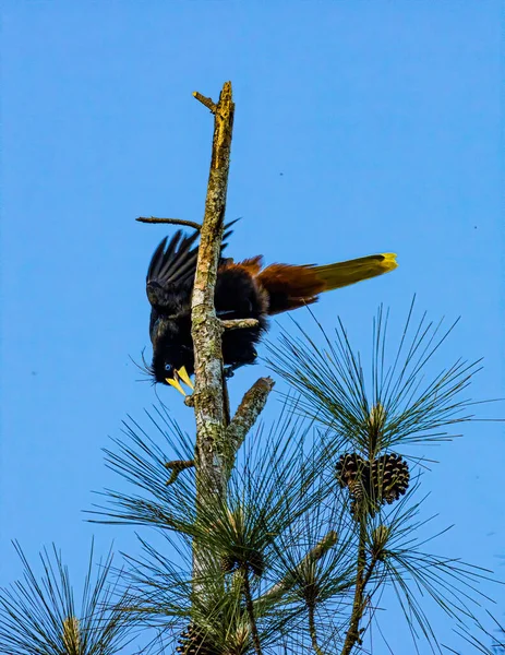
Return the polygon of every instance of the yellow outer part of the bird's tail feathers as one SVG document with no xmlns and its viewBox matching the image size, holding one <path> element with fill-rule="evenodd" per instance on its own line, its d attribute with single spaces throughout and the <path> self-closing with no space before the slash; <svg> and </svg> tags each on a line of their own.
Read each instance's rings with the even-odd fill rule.
<svg viewBox="0 0 505 655">
<path fill-rule="evenodd" d="M 329 291 L 361 282 L 362 279 L 383 275 L 384 273 L 394 271 L 397 266 L 396 254 L 394 252 L 385 252 L 383 254 L 361 257 L 347 262 L 314 266 L 312 270 L 324 282 L 324 290 Z"/>
</svg>

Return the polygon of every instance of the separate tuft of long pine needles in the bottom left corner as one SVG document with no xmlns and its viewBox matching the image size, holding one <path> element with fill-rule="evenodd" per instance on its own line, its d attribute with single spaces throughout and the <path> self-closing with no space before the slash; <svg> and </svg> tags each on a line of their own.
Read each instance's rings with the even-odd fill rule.
<svg viewBox="0 0 505 655">
<path fill-rule="evenodd" d="M 53 546 L 40 553 L 40 580 L 15 544 L 24 580 L 0 592 L 0 652 L 4 655 L 116 655 L 131 641 L 127 596 L 112 575 L 112 553 L 94 562 L 92 544 L 81 603 Z M 97 572 L 94 572 L 94 569 Z"/>
</svg>

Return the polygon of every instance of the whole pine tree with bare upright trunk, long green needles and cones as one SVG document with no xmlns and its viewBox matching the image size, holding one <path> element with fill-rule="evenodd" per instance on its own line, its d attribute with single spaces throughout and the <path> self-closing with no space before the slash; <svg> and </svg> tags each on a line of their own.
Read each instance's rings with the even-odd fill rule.
<svg viewBox="0 0 505 655">
<path fill-rule="evenodd" d="M 452 426 L 472 419 L 461 392 L 478 362 L 458 360 L 430 374 L 452 326 L 444 332 L 425 317 L 416 324 L 413 303 L 389 357 L 381 307 L 370 369 L 340 321 L 333 341 L 323 329 L 317 341 L 297 326 L 297 336 L 284 332 L 269 345 L 269 368 L 290 389 L 278 419 L 254 428 L 272 378 L 261 378 L 231 416 L 221 334 L 244 323 L 221 322 L 214 311 L 231 84 L 217 104 L 195 97 L 215 121 L 205 215 L 193 225 L 201 233 L 192 307 L 195 388 L 184 402 L 194 408 L 195 436 L 161 403 L 148 413 L 149 429 L 133 419 L 124 424 L 106 457 L 131 491 L 107 491 L 95 511 L 97 522 L 145 528 L 142 555 L 127 557 L 118 577 L 124 588 L 116 590 L 118 598 L 116 591 L 101 598 L 107 560 L 77 614 L 59 555 L 57 574 L 48 556 L 43 559 L 41 584 L 23 560 L 27 582 L 0 595 L 2 652 L 112 655 L 132 628 L 154 628 L 159 638 L 143 653 L 353 655 L 365 648 L 389 586 L 416 647 L 424 642 L 442 652 L 425 612 L 428 596 L 468 643 L 492 653 L 473 636 L 482 630 L 476 583 L 485 573 L 424 550 L 422 461 L 412 454 L 417 444 L 449 441 Z M 149 219 L 156 221 L 177 223 Z M 161 535 L 165 548 L 149 543 L 147 528 Z"/>
</svg>

